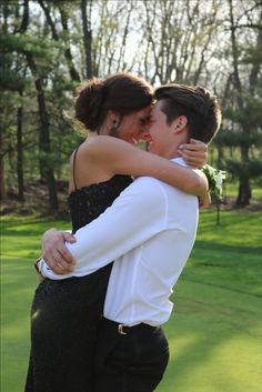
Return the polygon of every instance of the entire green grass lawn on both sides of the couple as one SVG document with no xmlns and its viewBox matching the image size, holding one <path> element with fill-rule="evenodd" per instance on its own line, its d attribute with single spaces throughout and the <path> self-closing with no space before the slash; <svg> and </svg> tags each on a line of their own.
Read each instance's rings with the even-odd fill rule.
<svg viewBox="0 0 262 392">
<path fill-rule="evenodd" d="M 23 391 L 37 284 L 31 264 L 42 232 L 53 225 L 69 228 L 44 220 L 2 221 L 1 392 Z M 171 356 L 158 392 L 262 391 L 261 227 L 261 213 L 222 212 L 220 227 L 214 212 L 201 213 L 164 326 Z"/>
</svg>

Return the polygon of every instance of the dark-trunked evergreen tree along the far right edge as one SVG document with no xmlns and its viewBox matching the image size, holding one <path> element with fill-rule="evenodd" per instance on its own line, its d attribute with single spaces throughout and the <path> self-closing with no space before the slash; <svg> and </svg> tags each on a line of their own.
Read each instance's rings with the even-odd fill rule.
<svg viewBox="0 0 262 392">
<path fill-rule="evenodd" d="M 240 161 L 228 160 L 228 169 L 239 177 L 239 194 L 236 199 L 236 207 L 244 207 L 249 204 L 251 199 L 251 178 L 255 178 L 259 174 L 258 168 L 261 168 L 262 163 L 259 160 L 254 160 L 250 157 L 252 145 L 261 144 L 260 130 L 262 128 L 262 101 L 261 101 L 261 63 L 262 57 L 262 32 L 261 29 L 251 28 L 252 34 L 255 34 L 255 39 L 252 40 L 253 48 L 244 42 L 240 42 L 240 34 L 242 29 L 246 26 L 241 26 L 241 20 L 244 16 L 250 16 L 250 10 L 246 10 L 244 16 L 242 14 L 239 20 L 235 17 L 235 8 L 233 7 L 232 0 L 228 0 L 230 11 L 230 32 L 231 32 L 231 50 L 232 50 L 232 82 L 234 88 L 234 105 L 225 110 L 225 117 L 233 123 L 238 124 L 236 131 L 234 131 L 234 138 L 231 137 L 230 143 L 238 141 L 240 147 Z M 256 6 L 255 6 L 256 7 Z M 260 7 L 256 13 L 258 26 L 262 26 L 262 8 Z M 242 36 L 241 36 L 242 37 Z M 252 37 L 251 37 L 252 38 Z M 241 72 L 241 67 L 245 64 L 244 72 Z M 246 72 L 249 71 L 249 73 Z M 246 78 L 248 73 L 248 78 Z M 255 163 L 255 164 L 254 164 Z"/>
</svg>

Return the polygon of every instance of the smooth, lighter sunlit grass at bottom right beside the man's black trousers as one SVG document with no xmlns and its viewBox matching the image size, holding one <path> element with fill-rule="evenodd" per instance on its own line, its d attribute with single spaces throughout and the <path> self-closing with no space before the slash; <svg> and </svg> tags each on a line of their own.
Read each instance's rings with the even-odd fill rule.
<svg viewBox="0 0 262 392">
<path fill-rule="evenodd" d="M 174 298 L 177 310 L 164 326 L 171 358 L 157 391 L 258 392 L 261 300 L 183 280 Z"/>
</svg>

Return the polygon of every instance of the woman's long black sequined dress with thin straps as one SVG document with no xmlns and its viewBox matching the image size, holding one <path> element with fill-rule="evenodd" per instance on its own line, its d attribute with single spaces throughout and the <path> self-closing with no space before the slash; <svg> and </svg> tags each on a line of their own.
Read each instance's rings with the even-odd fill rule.
<svg viewBox="0 0 262 392">
<path fill-rule="evenodd" d="M 114 175 L 73 191 L 73 232 L 98 218 L 131 181 Z M 93 348 L 111 268 L 112 263 L 85 277 L 39 284 L 31 310 L 26 392 L 92 392 Z"/>
</svg>

